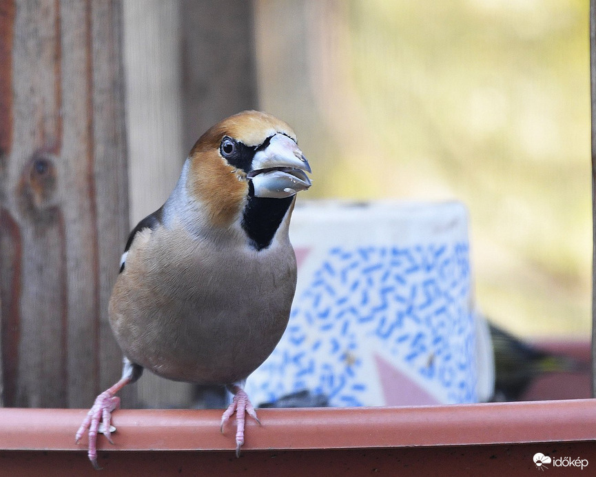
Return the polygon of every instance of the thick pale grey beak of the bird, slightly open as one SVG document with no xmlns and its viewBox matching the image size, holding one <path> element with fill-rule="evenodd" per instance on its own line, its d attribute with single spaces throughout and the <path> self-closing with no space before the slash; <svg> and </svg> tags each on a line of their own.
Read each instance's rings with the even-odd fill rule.
<svg viewBox="0 0 596 477">
<path fill-rule="evenodd" d="M 248 177 L 257 197 L 282 199 L 307 190 L 311 167 L 298 145 L 283 134 L 275 134 L 267 148 L 258 151 Z"/>
</svg>

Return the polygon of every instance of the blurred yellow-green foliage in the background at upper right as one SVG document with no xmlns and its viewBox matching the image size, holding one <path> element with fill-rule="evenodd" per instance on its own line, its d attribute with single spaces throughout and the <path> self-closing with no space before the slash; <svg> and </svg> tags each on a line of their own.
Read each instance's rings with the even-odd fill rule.
<svg viewBox="0 0 596 477">
<path fill-rule="evenodd" d="M 587 337 L 588 1 L 352 0 L 345 13 L 373 157 L 337 158 L 343 180 L 323 176 L 322 195 L 463 201 L 483 311 L 518 334 Z"/>
</svg>

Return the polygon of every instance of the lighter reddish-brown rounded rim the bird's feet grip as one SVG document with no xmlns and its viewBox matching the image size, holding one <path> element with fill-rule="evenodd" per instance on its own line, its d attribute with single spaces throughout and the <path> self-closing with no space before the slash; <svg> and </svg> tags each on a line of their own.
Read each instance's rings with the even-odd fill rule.
<svg viewBox="0 0 596 477">
<path fill-rule="evenodd" d="M 85 449 L 74 444 L 82 409 L 0 409 L 0 449 Z M 234 428 L 220 434 L 222 411 L 125 410 L 114 413 L 114 445 L 105 450 L 234 449 Z M 596 439 L 596 400 L 429 407 L 259 409 L 247 420 L 243 449 L 343 449 Z M 595 463 L 596 467 L 596 463 Z"/>
</svg>

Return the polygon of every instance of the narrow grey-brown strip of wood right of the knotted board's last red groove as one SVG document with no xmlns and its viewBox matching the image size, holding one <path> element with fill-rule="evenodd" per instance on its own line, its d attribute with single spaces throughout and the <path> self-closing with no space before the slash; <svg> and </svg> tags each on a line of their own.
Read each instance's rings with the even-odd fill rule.
<svg viewBox="0 0 596 477">
<path fill-rule="evenodd" d="M 121 46 L 122 2 L 92 1 L 91 4 L 93 136 L 96 138 L 93 175 L 98 197 L 98 360 L 99 389 L 102 392 L 114 384 L 114 377 L 118 378 L 121 374 L 122 353 L 110 328 L 107 303 L 116 279 L 123 240 L 129 232 L 129 197 Z"/>
</svg>

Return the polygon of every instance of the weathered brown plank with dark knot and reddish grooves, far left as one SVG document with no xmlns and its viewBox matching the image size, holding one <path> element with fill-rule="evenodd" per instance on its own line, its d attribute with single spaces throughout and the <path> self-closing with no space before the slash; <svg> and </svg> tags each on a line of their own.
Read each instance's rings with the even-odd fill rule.
<svg viewBox="0 0 596 477">
<path fill-rule="evenodd" d="M 120 374 L 107 332 L 128 232 L 120 19 L 117 1 L 16 3 L 1 71 L 12 85 L 0 176 L 7 406 L 87 407 Z"/>
</svg>

